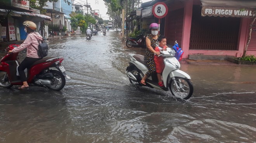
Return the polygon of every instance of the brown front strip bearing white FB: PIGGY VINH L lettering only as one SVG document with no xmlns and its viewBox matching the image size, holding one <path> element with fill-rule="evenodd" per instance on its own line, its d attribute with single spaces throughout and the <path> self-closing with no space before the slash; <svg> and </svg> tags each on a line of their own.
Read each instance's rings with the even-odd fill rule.
<svg viewBox="0 0 256 143">
<path fill-rule="evenodd" d="M 256 8 L 202 6 L 202 16 L 253 17 Z"/>
</svg>

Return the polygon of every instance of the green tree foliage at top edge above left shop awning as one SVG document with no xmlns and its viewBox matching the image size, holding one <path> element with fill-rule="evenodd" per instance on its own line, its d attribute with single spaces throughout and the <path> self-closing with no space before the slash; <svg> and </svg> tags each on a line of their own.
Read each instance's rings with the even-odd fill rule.
<svg viewBox="0 0 256 143">
<path fill-rule="evenodd" d="M 45 13 L 46 10 L 43 9 L 43 7 L 47 6 L 47 2 L 58 2 L 58 0 L 29 0 L 29 7 L 31 8 L 35 8 L 40 10 L 41 13 Z M 70 5 L 71 3 L 69 2 L 69 0 L 63 0 L 64 2 L 66 2 L 68 5 Z"/>
</svg>

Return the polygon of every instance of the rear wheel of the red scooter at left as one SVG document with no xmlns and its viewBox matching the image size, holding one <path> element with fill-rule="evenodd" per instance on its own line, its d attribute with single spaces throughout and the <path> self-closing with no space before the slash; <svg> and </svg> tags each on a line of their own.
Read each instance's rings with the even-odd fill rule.
<svg viewBox="0 0 256 143">
<path fill-rule="evenodd" d="M 66 84 L 65 77 L 59 71 L 50 70 L 50 72 L 53 74 L 54 77 L 51 79 L 51 85 L 47 86 L 48 89 L 52 89 L 54 91 L 61 90 L 65 86 L 65 84 Z"/>
</svg>

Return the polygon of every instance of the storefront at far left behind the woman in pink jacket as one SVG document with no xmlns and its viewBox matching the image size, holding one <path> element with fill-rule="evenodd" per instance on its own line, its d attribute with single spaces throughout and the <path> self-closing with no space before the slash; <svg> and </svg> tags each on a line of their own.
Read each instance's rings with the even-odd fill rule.
<svg viewBox="0 0 256 143">
<path fill-rule="evenodd" d="M 40 22 L 51 20 L 50 17 L 41 15 L 39 10 L 29 9 L 29 1 L 26 0 L 3 0 L 0 4 L 0 40 L 5 42 L 26 39 L 25 27 L 22 25 L 25 20 L 35 22 L 37 32 L 41 30 Z"/>
</svg>

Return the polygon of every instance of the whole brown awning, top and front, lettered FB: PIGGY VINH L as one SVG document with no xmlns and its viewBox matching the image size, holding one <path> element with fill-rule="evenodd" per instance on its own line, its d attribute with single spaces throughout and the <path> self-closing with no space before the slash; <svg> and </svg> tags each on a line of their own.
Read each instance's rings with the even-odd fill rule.
<svg viewBox="0 0 256 143">
<path fill-rule="evenodd" d="M 202 16 L 253 17 L 255 0 L 201 0 Z"/>
</svg>

